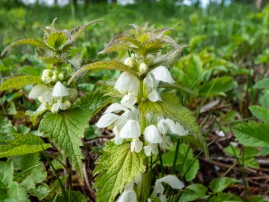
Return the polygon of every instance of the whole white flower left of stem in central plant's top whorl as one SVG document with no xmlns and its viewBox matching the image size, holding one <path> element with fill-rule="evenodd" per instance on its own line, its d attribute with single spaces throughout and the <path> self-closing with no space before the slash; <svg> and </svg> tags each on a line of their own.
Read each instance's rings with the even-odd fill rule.
<svg viewBox="0 0 269 202">
<path fill-rule="evenodd" d="M 121 103 L 127 102 L 131 106 L 137 102 L 137 94 L 139 91 L 139 79 L 129 72 L 122 72 L 115 84 L 120 94 L 124 95 Z"/>
</svg>

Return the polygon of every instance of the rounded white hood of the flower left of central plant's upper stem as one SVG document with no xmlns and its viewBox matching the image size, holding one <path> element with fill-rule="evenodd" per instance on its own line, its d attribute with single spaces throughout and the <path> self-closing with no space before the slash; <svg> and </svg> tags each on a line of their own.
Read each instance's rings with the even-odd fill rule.
<svg viewBox="0 0 269 202">
<path fill-rule="evenodd" d="M 115 89 L 117 89 L 121 94 L 128 94 L 128 92 L 132 92 L 135 96 L 137 96 L 139 90 L 139 79 L 129 72 L 122 72 L 115 84 Z"/>
</svg>

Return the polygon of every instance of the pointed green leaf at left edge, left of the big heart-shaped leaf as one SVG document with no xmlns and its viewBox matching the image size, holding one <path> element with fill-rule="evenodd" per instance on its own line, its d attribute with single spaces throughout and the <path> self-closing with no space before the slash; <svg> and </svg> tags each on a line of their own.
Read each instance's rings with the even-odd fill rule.
<svg viewBox="0 0 269 202">
<path fill-rule="evenodd" d="M 26 155 L 47 149 L 50 144 L 45 144 L 41 138 L 35 135 L 13 135 L 13 140 L 6 140 L 6 144 L 0 145 L 0 158 L 18 155 Z"/>
</svg>

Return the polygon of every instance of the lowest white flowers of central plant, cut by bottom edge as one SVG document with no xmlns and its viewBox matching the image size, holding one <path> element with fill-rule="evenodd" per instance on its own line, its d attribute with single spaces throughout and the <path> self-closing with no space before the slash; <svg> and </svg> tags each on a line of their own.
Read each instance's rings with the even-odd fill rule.
<svg viewBox="0 0 269 202">
<path fill-rule="evenodd" d="M 130 184 L 128 184 L 128 186 L 125 186 L 125 191 L 122 192 L 117 202 L 137 202 L 137 193 L 134 191 L 134 185 L 137 184 L 137 186 L 141 186 L 141 181 L 142 175 L 140 174 L 137 180 L 132 181 Z M 171 174 L 164 176 L 161 179 L 157 179 L 155 181 L 155 186 L 151 196 L 147 199 L 148 202 L 151 202 L 151 199 L 155 201 L 158 198 L 161 202 L 167 201 L 166 196 L 164 195 L 164 186 L 162 184 L 164 182 L 171 186 L 173 189 L 183 189 L 185 186 L 182 181 Z"/>
</svg>

